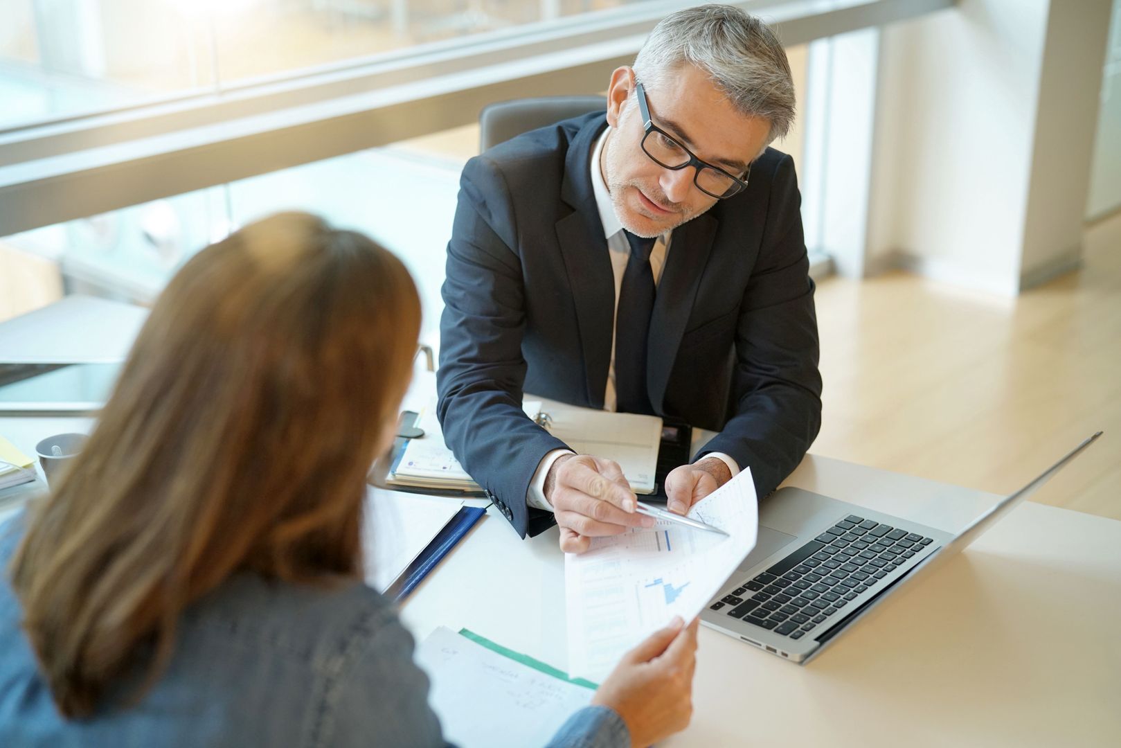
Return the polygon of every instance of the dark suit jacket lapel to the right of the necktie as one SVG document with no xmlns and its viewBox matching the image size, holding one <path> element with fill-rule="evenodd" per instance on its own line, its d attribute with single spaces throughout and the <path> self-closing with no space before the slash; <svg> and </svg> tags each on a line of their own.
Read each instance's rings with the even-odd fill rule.
<svg viewBox="0 0 1121 748">
<path fill-rule="evenodd" d="M 650 405 L 660 415 L 666 398 L 669 375 L 677 358 L 685 325 L 701 285 L 701 275 L 708 262 L 719 221 L 711 214 L 700 215 L 674 229 L 666 267 L 658 283 L 658 296 L 650 315 L 650 338 L 647 343 L 647 391 Z M 698 384 L 700 386 L 700 384 Z"/>
</svg>

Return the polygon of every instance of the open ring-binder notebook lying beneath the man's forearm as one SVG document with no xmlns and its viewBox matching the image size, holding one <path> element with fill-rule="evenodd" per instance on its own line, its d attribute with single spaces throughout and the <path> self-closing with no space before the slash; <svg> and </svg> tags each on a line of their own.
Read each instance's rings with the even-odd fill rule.
<svg viewBox="0 0 1121 748">
<path fill-rule="evenodd" d="M 661 418 L 552 401 L 545 407 L 540 400 L 526 400 L 522 409 L 576 453 L 618 462 L 636 493 L 655 491 Z M 479 484 L 444 444 L 435 398 L 418 414 L 415 425 L 424 436 L 408 440 L 395 455 L 386 483 L 393 488 L 479 491 Z"/>
</svg>

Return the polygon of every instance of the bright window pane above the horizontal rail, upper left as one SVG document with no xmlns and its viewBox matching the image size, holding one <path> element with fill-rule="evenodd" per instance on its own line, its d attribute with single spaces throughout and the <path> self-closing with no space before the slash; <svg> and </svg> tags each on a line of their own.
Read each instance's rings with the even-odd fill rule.
<svg viewBox="0 0 1121 748">
<path fill-rule="evenodd" d="M 0 127 L 447 49 L 643 0 L 0 0 Z"/>
</svg>

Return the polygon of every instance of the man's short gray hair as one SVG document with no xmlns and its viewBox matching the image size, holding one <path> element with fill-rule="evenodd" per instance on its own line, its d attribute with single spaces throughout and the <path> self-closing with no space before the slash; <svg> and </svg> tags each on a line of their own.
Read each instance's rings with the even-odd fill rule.
<svg viewBox="0 0 1121 748">
<path fill-rule="evenodd" d="M 657 86 L 682 63 L 708 74 L 732 105 L 770 122 L 768 142 L 794 122 L 794 80 L 786 50 L 775 31 L 733 6 L 698 6 L 667 16 L 634 58 L 634 74 Z"/>
</svg>

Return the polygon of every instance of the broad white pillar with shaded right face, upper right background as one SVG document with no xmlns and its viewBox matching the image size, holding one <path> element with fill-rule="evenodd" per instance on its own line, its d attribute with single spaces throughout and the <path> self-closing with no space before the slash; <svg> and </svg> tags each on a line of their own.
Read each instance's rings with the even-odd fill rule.
<svg viewBox="0 0 1121 748">
<path fill-rule="evenodd" d="M 1015 295 L 1077 253 L 1109 4 L 962 0 L 884 29 L 870 269 Z"/>
</svg>

